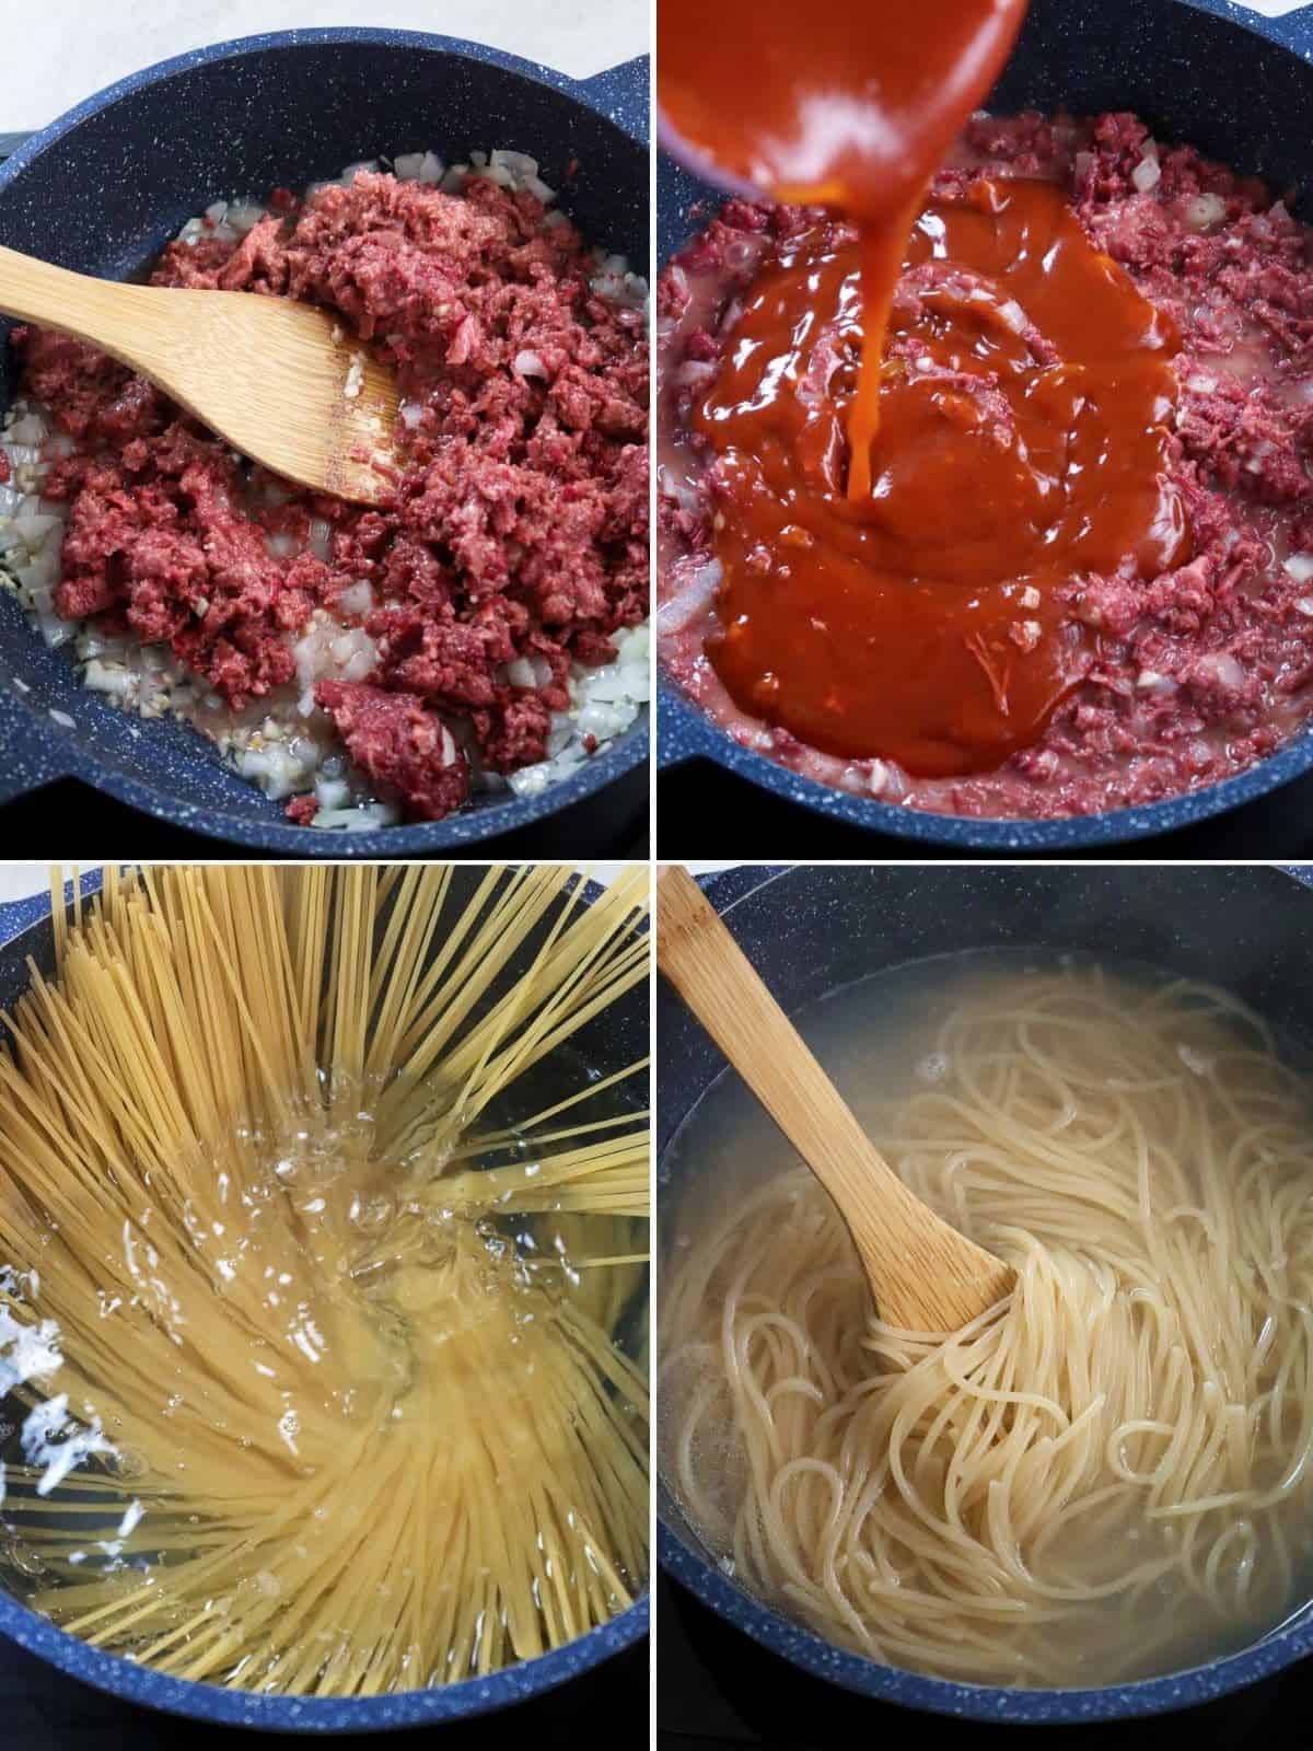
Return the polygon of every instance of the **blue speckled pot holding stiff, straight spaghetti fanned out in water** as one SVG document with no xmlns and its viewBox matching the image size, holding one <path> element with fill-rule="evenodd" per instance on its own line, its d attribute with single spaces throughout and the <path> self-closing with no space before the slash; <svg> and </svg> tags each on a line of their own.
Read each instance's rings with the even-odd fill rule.
<svg viewBox="0 0 1313 1751">
<path fill-rule="evenodd" d="M 457 868 L 455 891 L 473 890 L 480 867 Z M 82 893 L 100 890 L 100 872 L 82 877 Z M 588 883 L 585 895 L 592 904 L 600 888 Z M 72 907 L 72 884 L 65 886 L 65 900 Z M 0 1009 L 9 1009 L 28 989 L 26 960 L 32 956 L 42 972 L 54 967 L 54 933 L 51 928 L 51 902 L 47 895 L 0 905 Z M 618 1005 L 618 1014 L 606 1019 L 606 1030 L 588 1037 L 590 1061 L 602 1073 L 618 1070 L 646 1049 L 648 1002 L 646 989 Z M 4 1262 L 4 1261 L 0 1261 Z M 63 1630 L 11 1599 L 0 1586 L 0 1635 L 9 1635 L 19 1646 L 68 1672 L 70 1677 L 96 1690 L 107 1690 L 130 1702 L 140 1702 L 168 1714 L 184 1714 L 201 1721 L 219 1721 L 226 1726 L 252 1726 L 282 1733 L 375 1733 L 401 1726 L 436 1726 L 443 1721 L 462 1721 L 474 1714 L 525 1702 L 530 1697 L 555 1690 L 569 1679 L 588 1672 L 623 1648 L 632 1648 L 648 1634 L 648 1593 L 644 1592 L 627 1611 L 578 1641 L 567 1642 L 536 1660 L 492 1672 L 488 1677 L 469 1677 L 457 1684 L 434 1690 L 408 1690 L 387 1697 L 266 1697 L 243 1690 L 221 1690 L 217 1684 L 196 1684 L 189 1679 L 166 1677 L 151 1667 L 135 1665 L 112 1653 L 89 1648 Z M 648 1698 L 634 1697 L 635 1737 L 646 1732 Z M 0 1723 L 0 1744 L 9 1737 Z"/>
</svg>

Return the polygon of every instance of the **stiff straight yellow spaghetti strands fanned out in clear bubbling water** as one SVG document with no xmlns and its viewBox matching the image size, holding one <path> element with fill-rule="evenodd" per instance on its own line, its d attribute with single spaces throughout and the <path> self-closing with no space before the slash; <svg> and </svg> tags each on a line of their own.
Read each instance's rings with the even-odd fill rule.
<svg viewBox="0 0 1313 1751">
<path fill-rule="evenodd" d="M 581 1042 L 648 977 L 646 872 L 452 890 L 56 891 L 0 1058 L 0 1565 L 98 1648 L 366 1695 L 642 1585 L 644 1065 Z"/>
</svg>

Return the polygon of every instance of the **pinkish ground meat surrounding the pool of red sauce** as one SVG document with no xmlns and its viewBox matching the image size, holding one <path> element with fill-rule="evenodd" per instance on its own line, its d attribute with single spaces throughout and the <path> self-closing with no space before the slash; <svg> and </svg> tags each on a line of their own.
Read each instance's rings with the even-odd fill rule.
<svg viewBox="0 0 1313 1751">
<path fill-rule="evenodd" d="M 741 291 L 800 215 L 732 201 L 656 287 L 662 658 L 742 744 L 912 807 L 1071 816 L 1217 783 L 1313 709 L 1313 559 L 1302 564 L 1313 555 L 1309 231 L 1262 184 L 1189 147 L 1155 145 L 1127 114 L 979 117 L 937 191 L 984 173 L 1059 180 L 1091 238 L 1178 324 L 1169 475 L 1190 522 L 1189 562 L 1147 583 L 1070 581 L 1071 615 L 1098 632 L 1096 667 L 1040 742 L 996 772 L 910 779 L 884 760 L 830 758 L 742 713 L 702 650 L 714 627 L 716 459 L 688 431 L 688 410 L 718 369 Z"/>
</svg>

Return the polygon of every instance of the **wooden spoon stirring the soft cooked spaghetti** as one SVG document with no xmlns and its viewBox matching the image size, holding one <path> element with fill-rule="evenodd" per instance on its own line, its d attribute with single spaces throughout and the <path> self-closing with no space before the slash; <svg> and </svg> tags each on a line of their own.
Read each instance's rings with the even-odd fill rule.
<svg viewBox="0 0 1313 1751">
<path fill-rule="evenodd" d="M 1012 1266 L 949 1227 L 889 1168 L 678 865 L 656 883 L 656 965 L 833 1198 L 886 1324 L 958 1331 L 1012 1290 Z"/>
</svg>

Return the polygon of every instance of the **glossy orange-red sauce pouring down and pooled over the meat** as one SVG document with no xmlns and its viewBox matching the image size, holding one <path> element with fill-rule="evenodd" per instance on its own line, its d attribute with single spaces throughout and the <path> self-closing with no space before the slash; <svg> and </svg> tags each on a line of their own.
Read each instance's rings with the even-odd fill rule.
<svg viewBox="0 0 1313 1751">
<path fill-rule="evenodd" d="M 720 455 L 721 630 L 755 716 L 924 777 L 998 767 L 1089 672 L 1084 573 L 1187 557 L 1171 324 L 1050 184 L 924 189 L 1015 0 L 809 16 L 664 0 L 662 119 L 714 172 L 840 212 L 781 240 L 693 424 Z M 909 242 L 910 235 L 910 242 Z"/>
</svg>

